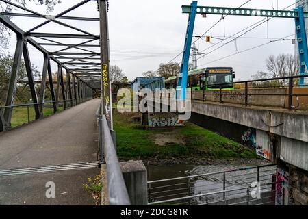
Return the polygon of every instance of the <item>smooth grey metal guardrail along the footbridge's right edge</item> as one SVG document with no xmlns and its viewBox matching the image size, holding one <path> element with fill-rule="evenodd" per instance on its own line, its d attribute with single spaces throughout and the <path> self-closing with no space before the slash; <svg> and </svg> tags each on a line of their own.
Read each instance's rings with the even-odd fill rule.
<svg viewBox="0 0 308 219">
<path fill-rule="evenodd" d="M 105 115 L 101 115 L 101 104 L 96 112 L 99 131 L 99 164 L 106 164 L 107 190 L 110 205 L 131 205 L 125 185 L 116 146 Z"/>
</svg>

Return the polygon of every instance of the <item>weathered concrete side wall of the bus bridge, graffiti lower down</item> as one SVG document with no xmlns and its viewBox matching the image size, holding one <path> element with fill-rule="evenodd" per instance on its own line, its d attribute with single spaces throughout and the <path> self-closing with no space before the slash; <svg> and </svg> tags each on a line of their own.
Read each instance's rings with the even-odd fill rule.
<svg viewBox="0 0 308 219">
<path fill-rule="evenodd" d="M 308 113 L 192 101 L 192 112 L 250 127 L 242 134 L 256 153 L 308 170 Z M 273 136 L 277 136 L 274 139 Z M 279 138 L 279 142 L 277 142 Z M 245 141 L 244 141 L 245 142 Z M 280 152 L 279 152 L 280 149 Z"/>
</svg>

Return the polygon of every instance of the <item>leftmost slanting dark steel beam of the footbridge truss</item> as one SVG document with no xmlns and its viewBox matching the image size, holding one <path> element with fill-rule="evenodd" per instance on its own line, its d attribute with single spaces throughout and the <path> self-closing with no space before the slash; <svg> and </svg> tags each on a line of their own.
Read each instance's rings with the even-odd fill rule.
<svg viewBox="0 0 308 219">
<path fill-rule="evenodd" d="M 16 92 L 16 85 L 18 79 L 18 71 L 21 66 L 21 55 L 23 53 L 23 36 L 17 35 L 16 49 L 14 53 L 14 62 L 12 66 L 12 73 L 10 83 L 8 86 L 8 94 L 6 96 L 5 106 L 11 106 L 14 103 L 14 96 Z M 12 107 L 7 107 L 4 110 L 3 118 L 5 120 L 4 131 L 11 129 Z"/>
</svg>

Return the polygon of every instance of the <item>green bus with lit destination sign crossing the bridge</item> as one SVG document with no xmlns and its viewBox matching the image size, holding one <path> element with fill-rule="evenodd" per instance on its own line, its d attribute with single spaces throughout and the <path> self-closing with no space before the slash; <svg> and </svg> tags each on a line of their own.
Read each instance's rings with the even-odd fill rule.
<svg viewBox="0 0 308 219">
<path fill-rule="evenodd" d="M 187 89 L 202 90 L 233 90 L 233 78 L 235 73 L 231 67 L 211 67 L 190 70 L 188 72 Z M 176 76 L 169 77 L 165 80 L 165 88 L 177 87 Z"/>
</svg>

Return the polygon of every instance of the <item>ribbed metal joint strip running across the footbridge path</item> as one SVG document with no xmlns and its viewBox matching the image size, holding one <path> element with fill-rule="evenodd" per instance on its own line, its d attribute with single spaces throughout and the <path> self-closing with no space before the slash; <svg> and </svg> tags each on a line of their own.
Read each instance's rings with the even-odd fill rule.
<svg viewBox="0 0 308 219">
<path fill-rule="evenodd" d="M 8 169 L 8 170 L 0 170 L 0 177 L 12 176 L 12 175 L 26 175 L 26 174 L 41 173 L 41 172 L 56 172 L 62 170 L 81 170 L 81 169 L 95 168 L 98 166 L 99 162 L 83 162 L 75 164 L 60 164 L 55 166 Z"/>
</svg>

